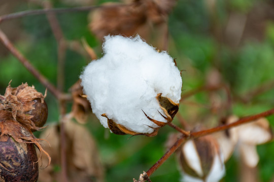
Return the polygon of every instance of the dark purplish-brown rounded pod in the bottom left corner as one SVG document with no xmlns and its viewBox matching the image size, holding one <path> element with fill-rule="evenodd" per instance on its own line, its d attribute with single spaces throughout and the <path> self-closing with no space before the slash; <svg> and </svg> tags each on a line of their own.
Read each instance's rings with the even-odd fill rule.
<svg viewBox="0 0 274 182">
<path fill-rule="evenodd" d="M 38 180 L 38 159 L 33 144 L 18 143 L 9 137 L 0 142 L 0 181 Z"/>
</svg>

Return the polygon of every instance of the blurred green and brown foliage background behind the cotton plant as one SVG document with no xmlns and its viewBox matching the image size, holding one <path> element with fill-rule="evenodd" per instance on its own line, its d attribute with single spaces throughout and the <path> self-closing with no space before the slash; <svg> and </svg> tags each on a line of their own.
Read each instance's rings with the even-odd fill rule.
<svg viewBox="0 0 274 182">
<path fill-rule="evenodd" d="M 77 1 L 77 0 L 75 0 Z M 53 7 L 84 6 L 68 1 L 51 1 Z M 72 1 L 71 1 L 72 2 Z M 107 1 L 91 1 L 98 5 Z M 32 1 L 0 1 L 0 14 L 31 9 L 41 9 Z M 89 12 L 58 14 L 57 18 L 67 40 L 85 38 L 101 56 L 101 41 L 88 27 Z M 57 84 L 57 43 L 45 15 L 26 16 L 0 24 L 15 47 L 47 77 Z M 168 53 L 176 58 L 182 72 L 182 94 L 207 84 L 212 70 L 231 89 L 232 107 L 229 111 L 212 112 L 207 92 L 198 93 L 180 104 L 181 115 L 191 126 L 202 123 L 217 124 L 216 118 L 233 113 L 238 116 L 256 114 L 274 107 L 274 1 L 259 0 L 179 0 L 168 17 Z M 153 42 L 148 42 L 154 46 Z M 80 44 L 81 45 L 81 44 Z M 80 48 L 81 49 L 81 48 Z M 64 66 L 64 91 L 67 92 L 79 78 L 83 67 L 90 61 L 73 50 L 67 50 Z M 35 85 L 44 93 L 45 87 L 33 77 L 9 51 L 0 44 L 0 94 L 12 80 L 13 87 L 22 82 Z M 248 93 L 268 84 L 269 88 L 249 98 Z M 217 92 L 221 102 L 223 92 Z M 245 100 L 246 99 L 246 100 Z M 58 122 L 56 99 L 48 93 L 48 124 Z M 194 104 L 193 104 L 194 103 Z M 71 105 L 67 106 L 67 112 Z M 226 113 L 227 112 L 227 113 Z M 212 120 L 211 120 L 212 119 Z M 268 117 L 273 125 L 274 117 Z M 174 123 L 180 125 L 177 118 Z M 157 136 L 115 135 L 102 127 L 93 115 L 86 124 L 97 141 L 101 160 L 105 165 L 106 181 L 132 181 L 148 170 L 166 151 L 168 135 L 175 132 L 166 126 Z M 39 133 L 36 133 L 39 135 Z M 274 143 L 257 147 L 260 156 L 258 176 L 260 181 L 274 180 Z M 238 181 L 237 157 L 226 163 L 222 181 Z M 152 176 L 152 181 L 179 181 L 181 178 L 175 157 L 170 157 Z"/>
</svg>

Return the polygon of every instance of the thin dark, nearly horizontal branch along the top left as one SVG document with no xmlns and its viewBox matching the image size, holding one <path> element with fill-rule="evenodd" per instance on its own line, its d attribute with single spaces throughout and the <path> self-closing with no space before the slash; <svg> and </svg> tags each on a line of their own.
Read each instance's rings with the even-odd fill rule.
<svg viewBox="0 0 274 182">
<path fill-rule="evenodd" d="M 20 18 L 24 16 L 30 15 L 43 15 L 46 13 L 70 13 L 70 12 L 81 12 L 81 11 L 91 11 L 97 8 L 113 8 L 113 7 L 121 7 L 121 6 L 129 6 L 132 4 L 119 4 L 119 5 L 110 5 L 110 6 L 87 6 L 87 7 L 75 7 L 75 8 L 54 8 L 54 9 L 43 9 L 43 10 L 27 10 L 7 15 L 0 16 L 0 23 L 6 20 L 11 20 L 15 18 Z"/>
</svg>

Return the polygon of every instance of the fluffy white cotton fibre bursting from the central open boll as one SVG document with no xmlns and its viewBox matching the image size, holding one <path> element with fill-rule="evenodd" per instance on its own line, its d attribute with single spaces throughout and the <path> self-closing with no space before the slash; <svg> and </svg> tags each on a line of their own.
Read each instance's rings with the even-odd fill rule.
<svg viewBox="0 0 274 182">
<path fill-rule="evenodd" d="M 151 127 L 158 126 L 143 111 L 166 122 L 158 113 L 163 114 L 157 94 L 175 103 L 181 98 L 182 79 L 173 58 L 166 52 L 158 53 L 140 36 L 107 36 L 102 48 L 104 56 L 88 64 L 80 76 L 93 113 L 106 128 L 104 113 L 129 130 L 153 132 Z"/>
</svg>

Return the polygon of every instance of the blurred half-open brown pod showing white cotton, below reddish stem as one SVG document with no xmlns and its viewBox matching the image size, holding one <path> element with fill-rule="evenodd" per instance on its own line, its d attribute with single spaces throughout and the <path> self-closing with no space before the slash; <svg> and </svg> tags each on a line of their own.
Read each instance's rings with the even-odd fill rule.
<svg viewBox="0 0 274 182">
<path fill-rule="evenodd" d="M 210 135 L 183 144 L 179 163 L 183 170 L 182 181 L 185 182 L 217 182 L 225 173 L 219 145 Z"/>
</svg>

